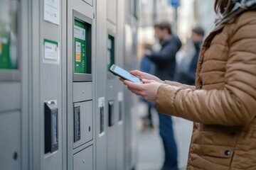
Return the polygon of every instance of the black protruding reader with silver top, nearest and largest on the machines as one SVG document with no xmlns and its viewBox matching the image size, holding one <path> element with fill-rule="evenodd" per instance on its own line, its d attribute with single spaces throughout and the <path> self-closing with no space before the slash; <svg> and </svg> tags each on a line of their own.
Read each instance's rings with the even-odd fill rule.
<svg viewBox="0 0 256 170">
<path fill-rule="evenodd" d="M 44 104 L 45 115 L 45 154 L 58 150 L 58 108 L 54 101 Z"/>
</svg>

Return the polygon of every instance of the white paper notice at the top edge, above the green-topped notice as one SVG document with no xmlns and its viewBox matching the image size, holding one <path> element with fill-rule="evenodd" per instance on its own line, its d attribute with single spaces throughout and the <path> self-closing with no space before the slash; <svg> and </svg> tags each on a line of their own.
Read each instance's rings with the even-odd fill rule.
<svg viewBox="0 0 256 170">
<path fill-rule="evenodd" d="M 43 19 L 60 25 L 60 0 L 44 0 Z"/>
</svg>

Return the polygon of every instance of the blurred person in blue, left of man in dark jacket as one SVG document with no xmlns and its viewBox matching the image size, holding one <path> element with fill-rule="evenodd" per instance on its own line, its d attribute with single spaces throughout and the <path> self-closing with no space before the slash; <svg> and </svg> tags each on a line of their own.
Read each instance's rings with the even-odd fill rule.
<svg viewBox="0 0 256 170">
<path fill-rule="evenodd" d="M 144 44 L 144 50 L 151 50 L 151 45 L 150 44 Z M 140 64 L 140 69 L 142 70 L 142 72 L 146 72 L 146 73 L 151 74 L 153 66 L 154 66 L 153 64 L 154 63 L 152 63 L 151 60 L 149 60 L 149 58 L 146 57 L 146 55 L 144 55 L 142 57 L 142 62 Z M 142 118 L 143 128 L 149 127 L 153 130 L 154 129 L 154 124 L 153 124 L 152 113 L 151 113 L 153 103 L 151 103 L 149 101 L 146 101 L 144 98 L 142 98 L 142 101 L 144 103 L 146 103 L 146 105 L 147 105 L 146 116 L 144 118 Z"/>
</svg>

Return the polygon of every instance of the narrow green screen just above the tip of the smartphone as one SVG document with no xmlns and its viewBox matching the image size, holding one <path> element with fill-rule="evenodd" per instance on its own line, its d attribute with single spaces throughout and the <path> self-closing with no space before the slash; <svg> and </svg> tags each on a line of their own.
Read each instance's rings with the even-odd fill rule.
<svg viewBox="0 0 256 170">
<path fill-rule="evenodd" d="M 114 64 L 114 37 L 108 35 L 107 40 L 107 71 L 110 72 L 110 67 Z"/>
</svg>

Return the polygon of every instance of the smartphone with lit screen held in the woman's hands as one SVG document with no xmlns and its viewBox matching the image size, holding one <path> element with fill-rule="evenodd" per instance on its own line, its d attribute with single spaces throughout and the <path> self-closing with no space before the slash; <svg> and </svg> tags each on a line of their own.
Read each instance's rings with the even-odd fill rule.
<svg viewBox="0 0 256 170">
<path fill-rule="evenodd" d="M 118 77 L 121 77 L 122 79 L 126 79 L 137 84 L 143 84 L 138 77 L 135 77 L 134 75 L 127 72 L 125 69 L 122 69 L 115 64 L 112 64 L 112 66 L 110 67 L 110 72 Z"/>
</svg>

